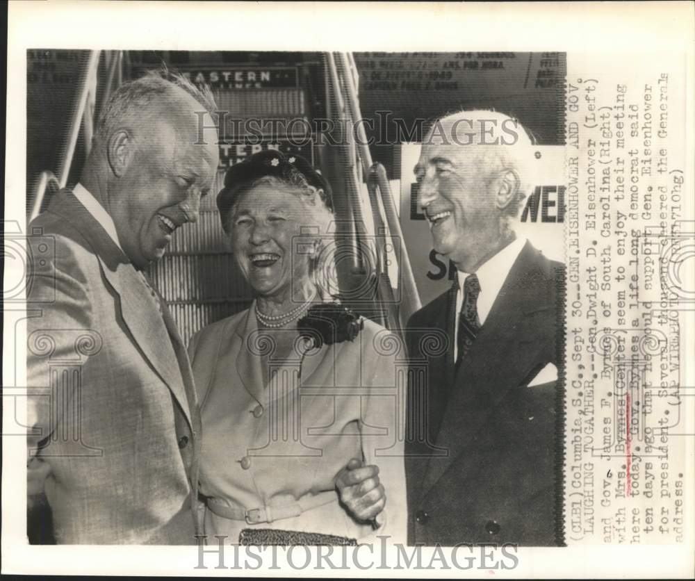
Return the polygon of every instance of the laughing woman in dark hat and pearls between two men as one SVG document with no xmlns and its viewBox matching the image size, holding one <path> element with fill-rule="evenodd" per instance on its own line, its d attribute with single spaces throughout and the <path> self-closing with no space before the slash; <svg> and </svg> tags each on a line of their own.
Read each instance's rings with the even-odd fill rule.
<svg viewBox="0 0 695 581">
<path fill-rule="evenodd" d="M 377 528 L 404 540 L 396 353 L 375 348 L 398 339 L 345 309 L 333 309 L 339 316 L 331 318 L 322 315 L 331 309 L 318 308 L 325 300 L 316 273 L 325 270 L 318 263 L 332 220 L 329 184 L 300 156 L 261 152 L 227 172 L 218 207 L 258 295 L 247 311 L 202 329 L 189 347 L 206 434 L 205 534 L 270 544 L 302 534 L 305 544 L 345 544 Z M 307 327 L 317 318 L 322 327 L 333 325 L 327 336 Z M 343 320 L 352 332 L 344 332 Z M 379 457 L 378 477 L 376 450 L 390 452 Z M 336 480 L 351 461 L 372 474 L 359 502 Z M 384 489 L 389 504 L 374 520 Z"/>
</svg>

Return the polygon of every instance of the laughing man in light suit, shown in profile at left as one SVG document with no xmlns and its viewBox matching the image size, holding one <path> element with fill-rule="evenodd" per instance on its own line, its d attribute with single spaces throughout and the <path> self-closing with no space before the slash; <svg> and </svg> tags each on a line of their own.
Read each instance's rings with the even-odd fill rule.
<svg viewBox="0 0 695 581">
<path fill-rule="evenodd" d="M 193 377 L 142 269 L 197 220 L 218 167 L 214 107 L 165 72 L 122 85 L 80 183 L 30 224 L 33 249 L 55 247 L 29 282 L 27 367 L 30 464 L 48 468 L 58 543 L 195 543 Z"/>
</svg>

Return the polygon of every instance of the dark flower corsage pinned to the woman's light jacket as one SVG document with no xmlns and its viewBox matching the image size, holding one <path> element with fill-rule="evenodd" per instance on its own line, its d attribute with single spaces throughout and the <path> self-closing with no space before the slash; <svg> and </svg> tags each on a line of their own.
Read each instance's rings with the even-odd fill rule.
<svg viewBox="0 0 695 581">
<path fill-rule="evenodd" d="M 339 302 L 315 304 L 297 322 L 300 336 L 311 339 L 313 347 L 354 341 L 364 328 L 364 318 Z"/>
</svg>

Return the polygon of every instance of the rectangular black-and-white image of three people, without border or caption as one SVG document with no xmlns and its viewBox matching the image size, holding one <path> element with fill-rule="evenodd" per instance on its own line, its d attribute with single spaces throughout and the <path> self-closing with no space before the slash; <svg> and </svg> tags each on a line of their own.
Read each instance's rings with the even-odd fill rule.
<svg viewBox="0 0 695 581">
<path fill-rule="evenodd" d="M 27 62 L 30 538 L 562 544 L 564 54 Z"/>
</svg>

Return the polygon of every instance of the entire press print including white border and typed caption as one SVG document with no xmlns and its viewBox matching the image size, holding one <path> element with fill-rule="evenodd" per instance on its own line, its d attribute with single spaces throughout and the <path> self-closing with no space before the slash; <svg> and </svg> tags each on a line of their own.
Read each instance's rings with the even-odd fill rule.
<svg viewBox="0 0 695 581">
<path fill-rule="evenodd" d="M 254 44 L 279 30 L 260 6 L 193 6 L 170 5 L 178 42 L 13 40 L 13 546 L 528 577 L 669 545 L 682 576 L 692 46 L 594 70 L 465 34 Z M 212 38 L 220 15 L 244 40 Z"/>
</svg>

